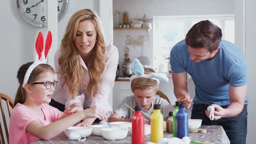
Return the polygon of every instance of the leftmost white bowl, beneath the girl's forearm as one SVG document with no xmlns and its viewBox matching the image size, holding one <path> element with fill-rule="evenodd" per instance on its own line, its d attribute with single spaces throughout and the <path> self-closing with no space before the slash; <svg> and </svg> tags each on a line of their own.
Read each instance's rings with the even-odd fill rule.
<svg viewBox="0 0 256 144">
<path fill-rule="evenodd" d="M 91 135 L 92 128 L 91 127 L 69 127 L 65 130 L 66 135 L 68 136 L 70 133 L 77 133 L 80 136 L 88 137 Z"/>
</svg>

